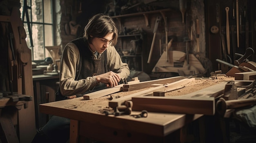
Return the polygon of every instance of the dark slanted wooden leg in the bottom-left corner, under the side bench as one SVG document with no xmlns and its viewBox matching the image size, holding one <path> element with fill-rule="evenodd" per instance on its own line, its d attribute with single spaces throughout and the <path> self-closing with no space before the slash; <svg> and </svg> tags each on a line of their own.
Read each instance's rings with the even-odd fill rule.
<svg viewBox="0 0 256 143">
<path fill-rule="evenodd" d="M 11 117 L 13 114 L 2 112 L 0 108 L 0 141 L 2 143 L 19 143 L 19 139 L 12 123 Z"/>
</svg>

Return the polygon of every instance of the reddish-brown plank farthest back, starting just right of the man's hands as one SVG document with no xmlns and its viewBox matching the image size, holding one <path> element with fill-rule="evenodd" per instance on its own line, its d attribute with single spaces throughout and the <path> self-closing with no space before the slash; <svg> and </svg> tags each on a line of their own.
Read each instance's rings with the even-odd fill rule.
<svg viewBox="0 0 256 143">
<path fill-rule="evenodd" d="M 133 90 L 139 90 L 143 88 L 150 88 L 150 87 L 154 87 L 154 84 L 173 83 L 175 81 L 185 79 L 185 78 L 186 77 L 178 76 L 178 77 L 170 77 L 170 78 L 156 79 L 156 80 L 150 80 L 150 81 L 142 81 L 137 84 L 126 84 L 124 85 L 123 91 L 133 91 Z"/>
</svg>

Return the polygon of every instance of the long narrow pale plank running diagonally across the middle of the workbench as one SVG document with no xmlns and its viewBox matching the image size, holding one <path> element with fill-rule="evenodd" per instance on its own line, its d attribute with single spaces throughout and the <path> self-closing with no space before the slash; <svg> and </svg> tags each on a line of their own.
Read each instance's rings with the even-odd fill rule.
<svg viewBox="0 0 256 143">
<path fill-rule="evenodd" d="M 163 86 L 157 86 L 157 87 L 154 87 L 154 88 L 149 88 L 148 90 L 143 90 L 143 91 L 140 91 L 140 92 L 137 92 L 137 93 L 134 93 L 134 94 L 122 97 L 122 98 L 113 99 L 112 101 L 108 102 L 108 106 L 110 106 L 111 108 L 116 108 L 117 106 L 121 106 L 122 104 L 124 104 L 124 101 L 131 100 L 132 97 L 139 96 L 139 95 L 150 95 L 150 94 L 153 95 L 154 91 L 175 90 L 175 89 L 180 88 L 180 86 L 183 86 L 184 84 L 189 83 L 189 82 L 194 81 L 194 80 L 195 80 L 195 78 L 182 79 L 182 80 L 179 80 L 179 81 L 175 81 L 171 84 L 166 84 L 166 85 L 163 85 Z M 165 88 L 168 88 L 168 89 L 165 89 Z"/>
</svg>

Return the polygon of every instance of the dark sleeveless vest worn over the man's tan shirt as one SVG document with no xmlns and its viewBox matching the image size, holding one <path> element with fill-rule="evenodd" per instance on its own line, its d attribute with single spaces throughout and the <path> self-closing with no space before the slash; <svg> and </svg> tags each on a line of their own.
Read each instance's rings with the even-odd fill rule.
<svg viewBox="0 0 256 143">
<path fill-rule="evenodd" d="M 85 42 L 83 37 L 73 40 L 71 42 L 77 46 L 80 53 L 79 64 L 76 68 L 76 81 L 80 79 L 86 79 L 87 77 L 92 77 L 94 75 L 101 75 L 109 71 L 107 66 L 107 51 L 104 51 L 99 59 L 94 59 L 92 52 L 90 51 L 89 46 L 87 42 Z M 104 88 L 106 88 L 106 85 L 101 83 L 94 88 L 88 90 L 87 92 L 77 94 L 76 96 L 81 97 L 84 94 Z M 56 101 L 62 99 L 67 99 L 67 96 L 64 97 L 63 95 L 61 95 L 60 89 L 58 89 L 58 92 L 56 92 Z"/>
</svg>

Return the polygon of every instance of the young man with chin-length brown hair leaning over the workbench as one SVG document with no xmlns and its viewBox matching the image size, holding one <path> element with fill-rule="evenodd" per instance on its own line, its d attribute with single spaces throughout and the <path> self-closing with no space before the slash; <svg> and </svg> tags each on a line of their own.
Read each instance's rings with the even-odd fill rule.
<svg viewBox="0 0 256 143">
<path fill-rule="evenodd" d="M 84 36 L 68 43 L 61 57 L 60 85 L 56 101 L 68 96 L 115 87 L 130 75 L 114 45 L 118 31 L 105 14 L 94 15 L 84 29 Z M 70 120 L 53 116 L 40 128 L 33 142 L 64 142 L 69 139 Z"/>
</svg>

